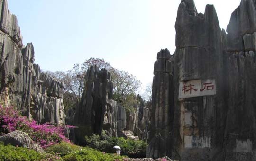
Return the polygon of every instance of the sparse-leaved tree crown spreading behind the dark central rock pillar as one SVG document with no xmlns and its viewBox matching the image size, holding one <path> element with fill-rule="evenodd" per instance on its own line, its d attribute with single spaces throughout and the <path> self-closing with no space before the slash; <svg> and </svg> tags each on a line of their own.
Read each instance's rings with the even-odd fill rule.
<svg viewBox="0 0 256 161">
<path fill-rule="evenodd" d="M 90 66 L 96 65 L 99 70 L 105 68 L 110 72 L 113 83 L 113 99 L 123 106 L 130 106 L 131 95 L 135 95 L 137 89 L 141 86 L 141 82 L 127 71 L 118 70 L 100 58 L 90 58 L 84 63 L 74 64 L 71 70 L 67 72 L 56 71 L 50 72 L 51 76 L 64 83 L 64 107 L 65 109 L 75 108 L 79 105 L 82 93 L 85 87 L 84 77 Z M 136 100 L 136 99 L 134 99 Z"/>
</svg>

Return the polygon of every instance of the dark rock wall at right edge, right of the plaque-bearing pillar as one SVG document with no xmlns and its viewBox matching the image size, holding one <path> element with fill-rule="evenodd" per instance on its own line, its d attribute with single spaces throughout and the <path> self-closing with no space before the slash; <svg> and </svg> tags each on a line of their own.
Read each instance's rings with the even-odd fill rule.
<svg viewBox="0 0 256 161">
<path fill-rule="evenodd" d="M 237 19 L 237 20 L 235 20 Z M 227 28 L 226 160 L 256 160 L 256 0 L 242 0 Z"/>
</svg>

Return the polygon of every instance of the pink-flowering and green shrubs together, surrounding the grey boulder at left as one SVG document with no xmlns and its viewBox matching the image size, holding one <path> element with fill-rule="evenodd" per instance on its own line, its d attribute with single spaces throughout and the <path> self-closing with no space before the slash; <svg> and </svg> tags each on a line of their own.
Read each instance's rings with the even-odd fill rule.
<svg viewBox="0 0 256 161">
<path fill-rule="evenodd" d="M 63 126 L 38 125 L 21 116 L 14 107 L 0 105 L 0 135 L 15 130 L 26 132 L 46 153 L 0 143 L 0 161 L 122 161 L 126 158 L 74 145 L 64 136 Z"/>
</svg>

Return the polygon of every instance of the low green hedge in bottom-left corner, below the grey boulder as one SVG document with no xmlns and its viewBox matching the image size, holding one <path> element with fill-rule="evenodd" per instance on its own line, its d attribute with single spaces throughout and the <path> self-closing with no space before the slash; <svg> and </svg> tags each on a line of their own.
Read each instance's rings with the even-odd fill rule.
<svg viewBox="0 0 256 161">
<path fill-rule="evenodd" d="M 61 161 L 56 155 L 38 153 L 23 147 L 4 146 L 0 142 L 0 161 Z"/>
</svg>

